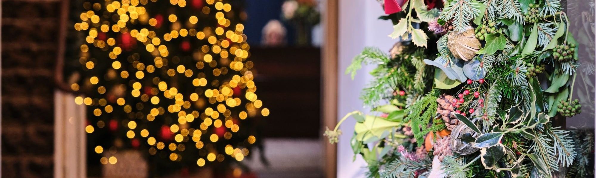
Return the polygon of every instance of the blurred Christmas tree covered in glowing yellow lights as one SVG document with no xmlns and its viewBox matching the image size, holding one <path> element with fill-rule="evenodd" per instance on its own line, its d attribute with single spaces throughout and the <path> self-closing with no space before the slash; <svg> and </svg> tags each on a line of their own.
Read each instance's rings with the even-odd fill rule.
<svg viewBox="0 0 596 178">
<path fill-rule="evenodd" d="M 147 153 L 150 176 L 243 167 L 269 115 L 234 0 L 77 0 L 64 75 L 88 106 L 88 166 Z M 91 174 L 92 169 L 89 170 Z"/>
</svg>

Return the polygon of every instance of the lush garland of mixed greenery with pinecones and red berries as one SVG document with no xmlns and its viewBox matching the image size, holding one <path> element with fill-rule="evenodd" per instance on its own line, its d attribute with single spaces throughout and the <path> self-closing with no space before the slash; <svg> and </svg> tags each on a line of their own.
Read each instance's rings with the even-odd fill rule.
<svg viewBox="0 0 596 178">
<path fill-rule="evenodd" d="M 573 100 L 581 43 L 560 0 L 399 6 L 381 19 L 393 21 L 389 36 L 402 42 L 390 54 L 365 48 L 346 71 L 353 77 L 363 63 L 378 65 L 361 99 L 381 115 L 352 112 L 325 132 L 333 144 L 343 120 L 356 119 L 350 144 L 367 161 L 368 177 L 593 172 L 593 134 L 553 123 L 582 107 Z"/>
</svg>

